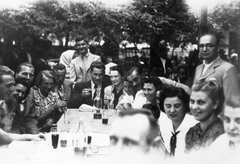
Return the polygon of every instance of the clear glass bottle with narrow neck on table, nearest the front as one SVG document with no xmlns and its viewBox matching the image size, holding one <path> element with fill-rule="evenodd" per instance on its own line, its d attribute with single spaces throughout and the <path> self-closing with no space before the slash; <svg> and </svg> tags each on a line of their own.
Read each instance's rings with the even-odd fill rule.
<svg viewBox="0 0 240 164">
<path fill-rule="evenodd" d="M 87 137 L 84 131 L 83 120 L 79 120 L 78 129 L 74 135 L 73 148 L 76 156 L 84 157 L 86 154 Z"/>
</svg>

